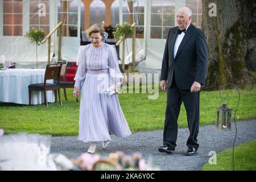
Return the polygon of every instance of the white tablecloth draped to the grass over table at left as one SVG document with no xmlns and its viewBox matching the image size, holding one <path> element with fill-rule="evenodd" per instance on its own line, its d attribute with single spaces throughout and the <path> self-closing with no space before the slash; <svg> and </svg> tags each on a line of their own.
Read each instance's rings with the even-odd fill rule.
<svg viewBox="0 0 256 182">
<path fill-rule="evenodd" d="M 44 82 L 46 69 L 6 69 L 0 70 L 0 101 L 29 104 L 28 85 Z M 48 80 L 47 82 L 53 82 Z M 47 91 L 47 101 L 55 102 L 53 91 Z M 44 93 L 32 91 L 31 104 L 43 104 Z"/>
</svg>

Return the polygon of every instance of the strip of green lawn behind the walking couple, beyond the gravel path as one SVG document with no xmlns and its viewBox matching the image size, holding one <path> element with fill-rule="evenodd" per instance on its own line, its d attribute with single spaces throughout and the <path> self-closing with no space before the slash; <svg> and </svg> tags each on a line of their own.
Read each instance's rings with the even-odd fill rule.
<svg viewBox="0 0 256 182">
<path fill-rule="evenodd" d="M 123 88 L 125 89 L 125 88 Z M 63 106 L 59 102 L 45 105 L 17 105 L 0 102 L 0 128 L 10 133 L 40 133 L 51 135 L 77 135 L 79 130 L 79 104 L 72 96 L 73 89 L 68 90 L 68 101 L 65 101 L 63 90 L 61 96 Z M 236 108 L 237 92 L 228 90 L 228 106 Z M 166 109 L 166 92 L 160 91 L 157 100 L 148 100 L 149 94 L 122 93 L 119 101 L 123 113 L 134 131 L 163 129 Z M 216 120 L 216 107 L 222 101 L 218 91 L 201 92 L 200 125 L 212 125 Z M 238 107 L 239 120 L 256 118 L 256 85 L 241 90 L 241 101 Z M 234 113 L 234 110 L 233 110 Z M 233 119 L 233 114 L 232 114 Z M 187 126 L 187 118 L 182 105 L 179 127 Z"/>
</svg>

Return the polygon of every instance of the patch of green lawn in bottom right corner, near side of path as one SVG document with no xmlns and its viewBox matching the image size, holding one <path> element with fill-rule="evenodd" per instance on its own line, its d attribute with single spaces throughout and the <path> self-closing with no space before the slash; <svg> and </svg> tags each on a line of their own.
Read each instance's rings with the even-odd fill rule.
<svg viewBox="0 0 256 182">
<path fill-rule="evenodd" d="M 217 154 L 216 164 L 206 163 L 204 171 L 230 171 L 233 166 L 233 148 Z M 234 148 L 234 169 L 237 171 L 256 170 L 256 140 L 243 143 Z"/>
</svg>

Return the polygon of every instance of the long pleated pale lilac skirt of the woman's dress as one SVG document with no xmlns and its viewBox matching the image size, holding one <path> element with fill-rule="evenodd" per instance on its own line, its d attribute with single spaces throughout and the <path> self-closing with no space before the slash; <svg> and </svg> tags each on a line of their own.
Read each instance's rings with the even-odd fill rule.
<svg viewBox="0 0 256 182">
<path fill-rule="evenodd" d="M 110 75 L 86 73 L 81 89 L 79 137 L 82 142 L 111 140 L 110 134 L 127 137 L 131 134 L 118 96 L 106 97 Z"/>
</svg>

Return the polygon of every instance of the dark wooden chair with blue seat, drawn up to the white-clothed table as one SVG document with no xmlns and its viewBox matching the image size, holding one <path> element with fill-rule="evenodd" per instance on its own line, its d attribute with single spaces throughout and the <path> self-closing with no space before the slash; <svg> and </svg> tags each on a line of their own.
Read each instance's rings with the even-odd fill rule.
<svg viewBox="0 0 256 182">
<path fill-rule="evenodd" d="M 61 66 L 62 64 L 48 64 L 46 66 L 46 73 L 44 74 L 44 82 L 40 84 L 31 84 L 28 85 L 28 94 L 30 98 L 30 105 L 31 105 L 31 92 L 32 91 L 43 91 L 44 92 L 44 104 L 48 107 L 48 102 L 47 102 L 47 94 L 46 91 L 48 90 L 54 90 L 55 93 L 55 103 L 57 101 L 57 92 L 59 94 L 59 100 L 60 100 L 60 105 L 62 106 L 61 103 L 61 97 L 60 97 L 60 71 L 61 71 Z M 49 84 L 46 81 L 47 80 L 55 80 L 53 84 Z"/>
</svg>

